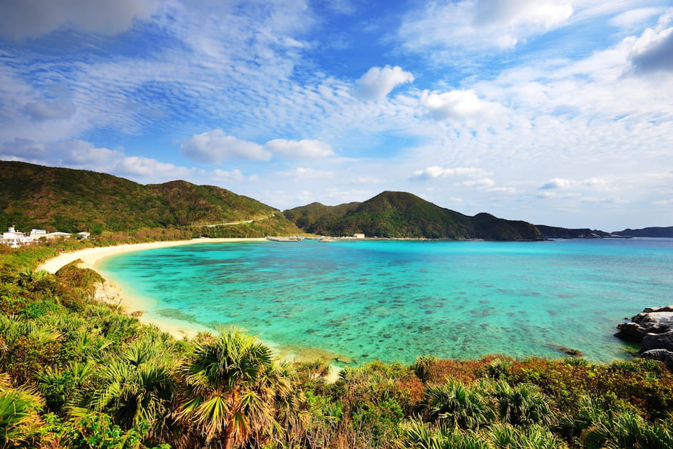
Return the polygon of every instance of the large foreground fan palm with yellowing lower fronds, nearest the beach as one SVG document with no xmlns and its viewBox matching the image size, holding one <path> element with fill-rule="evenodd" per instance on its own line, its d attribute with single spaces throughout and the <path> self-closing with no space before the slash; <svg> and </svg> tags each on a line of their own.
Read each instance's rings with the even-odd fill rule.
<svg viewBox="0 0 673 449">
<path fill-rule="evenodd" d="M 230 449 L 249 435 L 271 434 L 274 400 L 283 376 L 274 373 L 271 350 L 239 329 L 204 339 L 178 369 L 183 381 L 178 419 L 205 444 Z"/>
</svg>

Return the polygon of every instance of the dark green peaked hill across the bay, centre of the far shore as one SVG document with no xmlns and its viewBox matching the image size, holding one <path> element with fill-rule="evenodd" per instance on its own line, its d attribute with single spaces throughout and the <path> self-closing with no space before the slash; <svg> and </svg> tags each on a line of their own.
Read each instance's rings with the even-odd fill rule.
<svg viewBox="0 0 673 449">
<path fill-rule="evenodd" d="M 298 227 L 314 234 L 426 239 L 538 240 L 533 224 L 486 213 L 468 217 L 406 192 L 382 192 L 362 203 L 312 203 L 284 211 Z"/>
</svg>

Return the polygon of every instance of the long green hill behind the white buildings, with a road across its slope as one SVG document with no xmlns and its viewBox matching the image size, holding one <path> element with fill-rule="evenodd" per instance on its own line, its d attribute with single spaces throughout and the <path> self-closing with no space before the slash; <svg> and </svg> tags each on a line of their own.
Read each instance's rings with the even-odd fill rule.
<svg viewBox="0 0 673 449">
<path fill-rule="evenodd" d="M 255 222 L 197 227 L 243 220 Z M 299 232 L 274 207 L 212 185 L 141 185 L 105 173 L 6 161 L 0 161 L 0 224 L 94 234 L 157 228 L 211 237 Z"/>
</svg>

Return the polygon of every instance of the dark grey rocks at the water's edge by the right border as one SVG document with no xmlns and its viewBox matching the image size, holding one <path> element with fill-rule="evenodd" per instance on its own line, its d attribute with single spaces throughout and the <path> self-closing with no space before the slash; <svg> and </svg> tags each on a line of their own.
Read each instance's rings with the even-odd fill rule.
<svg viewBox="0 0 673 449">
<path fill-rule="evenodd" d="M 615 336 L 640 344 L 639 357 L 662 361 L 673 371 L 673 306 L 647 307 Z"/>
</svg>

